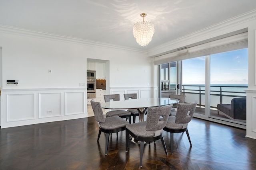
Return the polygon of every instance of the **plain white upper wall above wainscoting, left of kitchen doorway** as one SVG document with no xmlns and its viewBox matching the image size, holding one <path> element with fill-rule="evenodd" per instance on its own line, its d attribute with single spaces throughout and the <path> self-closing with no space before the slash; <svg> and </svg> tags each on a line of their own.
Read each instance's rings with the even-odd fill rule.
<svg viewBox="0 0 256 170">
<path fill-rule="evenodd" d="M 86 82 L 86 49 L 82 45 L 0 33 L 0 46 L 2 89 L 74 88 Z M 6 80 L 19 80 L 18 86 L 8 87 Z"/>
</svg>

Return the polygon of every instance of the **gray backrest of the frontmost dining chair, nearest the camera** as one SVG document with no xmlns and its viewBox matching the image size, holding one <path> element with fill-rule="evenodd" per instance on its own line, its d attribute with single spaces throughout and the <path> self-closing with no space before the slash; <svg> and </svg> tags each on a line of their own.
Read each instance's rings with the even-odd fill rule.
<svg viewBox="0 0 256 170">
<path fill-rule="evenodd" d="M 146 130 L 147 131 L 162 130 L 166 126 L 171 109 L 172 109 L 172 104 L 168 106 L 162 106 L 162 107 L 161 106 L 148 107 Z M 162 119 L 160 119 L 160 116 L 162 116 Z"/>
</svg>

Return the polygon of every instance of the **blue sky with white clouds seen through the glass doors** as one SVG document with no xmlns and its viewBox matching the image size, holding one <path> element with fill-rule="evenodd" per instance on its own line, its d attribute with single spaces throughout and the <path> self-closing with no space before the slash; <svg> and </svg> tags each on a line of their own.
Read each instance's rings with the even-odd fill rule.
<svg viewBox="0 0 256 170">
<path fill-rule="evenodd" d="M 205 57 L 182 61 L 182 84 L 205 84 L 204 72 Z M 248 84 L 248 49 L 210 55 L 210 82 Z"/>
</svg>

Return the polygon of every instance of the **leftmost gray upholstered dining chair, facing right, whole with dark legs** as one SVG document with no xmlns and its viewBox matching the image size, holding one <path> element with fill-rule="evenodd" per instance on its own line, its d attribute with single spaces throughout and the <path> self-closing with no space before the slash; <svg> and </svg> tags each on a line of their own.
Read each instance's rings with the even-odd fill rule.
<svg viewBox="0 0 256 170">
<path fill-rule="evenodd" d="M 99 141 L 99 139 L 100 139 L 101 132 L 106 133 L 105 155 L 107 155 L 108 154 L 109 134 L 116 133 L 118 135 L 118 132 L 124 131 L 125 126 L 129 123 L 128 123 L 128 121 L 122 119 L 119 116 L 112 116 L 112 117 L 104 118 L 104 114 L 103 114 L 100 102 L 94 102 L 94 100 L 91 100 L 90 102 L 92 105 L 92 110 L 93 110 L 95 119 L 98 122 L 98 125 L 100 128 L 97 141 Z"/>
</svg>

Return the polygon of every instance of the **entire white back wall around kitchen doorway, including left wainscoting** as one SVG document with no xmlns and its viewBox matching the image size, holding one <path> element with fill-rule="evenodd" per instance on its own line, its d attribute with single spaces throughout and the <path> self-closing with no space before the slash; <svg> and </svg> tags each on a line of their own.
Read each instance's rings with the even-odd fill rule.
<svg viewBox="0 0 256 170">
<path fill-rule="evenodd" d="M 110 88 L 154 86 L 155 66 L 143 51 L 3 27 L 0 47 L 1 128 L 87 117 L 86 88 L 79 86 L 87 58 L 109 61 Z M 6 80 L 19 80 L 18 86 Z"/>
</svg>

